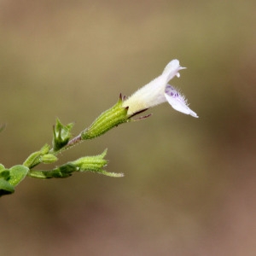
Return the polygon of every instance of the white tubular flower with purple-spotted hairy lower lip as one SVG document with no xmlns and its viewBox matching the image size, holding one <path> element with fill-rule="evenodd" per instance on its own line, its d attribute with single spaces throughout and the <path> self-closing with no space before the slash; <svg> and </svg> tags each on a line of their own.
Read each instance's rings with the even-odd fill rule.
<svg viewBox="0 0 256 256">
<path fill-rule="evenodd" d="M 175 110 L 197 118 L 197 114 L 189 108 L 185 97 L 172 85 L 167 84 L 175 76 L 179 78 L 180 74 L 178 71 L 184 68 L 186 67 L 179 66 L 179 61 L 177 60 L 169 62 L 164 72 L 158 78 L 137 90 L 123 102 L 123 107 L 129 107 L 128 115 L 141 112 L 164 102 L 169 102 Z"/>
</svg>

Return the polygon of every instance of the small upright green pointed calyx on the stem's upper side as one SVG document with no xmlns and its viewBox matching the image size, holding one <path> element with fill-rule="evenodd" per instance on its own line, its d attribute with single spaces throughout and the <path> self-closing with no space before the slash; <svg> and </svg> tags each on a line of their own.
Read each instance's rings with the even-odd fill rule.
<svg viewBox="0 0 256 256">
<path fill-rule="evenodd" d="M 72 137 L 71 130 L 73 123 L 68 125 L 62 125 L 60 119 L 56 119 L 56 124 L 53 129 L 53 148 L 54 151 L 58 151 L 67 145 L 68 141 Z"/>
</svg>

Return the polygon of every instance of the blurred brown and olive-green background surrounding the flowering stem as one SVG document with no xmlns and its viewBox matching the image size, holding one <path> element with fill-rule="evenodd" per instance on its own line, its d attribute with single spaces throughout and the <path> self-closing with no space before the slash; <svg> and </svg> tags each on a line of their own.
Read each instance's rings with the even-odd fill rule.
<svg viewBox="0 0 256 256">
<path fill-rule="evenodd" d="M 255 255 L 254 1 L 0 1 L 0 161 L 74 135 L 157 77 L 198 115 L 168 104 L 60 162 L 108 148 L 109 172 L 26 178 L 0 200 L 1 255 Z"/>
</svg>

